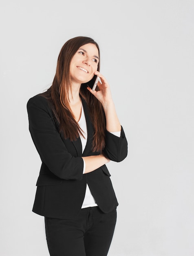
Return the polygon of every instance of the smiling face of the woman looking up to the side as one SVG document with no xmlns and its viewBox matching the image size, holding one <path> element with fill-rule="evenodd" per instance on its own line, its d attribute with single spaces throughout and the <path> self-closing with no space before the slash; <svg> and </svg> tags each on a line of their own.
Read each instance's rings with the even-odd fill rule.
<svg viewBox="0 0 194 256">
<path fill-rule="evenodd" d="M 94 72 L 97 71 L 99 63 L 99 52 L 96 45 L 88 43 L 79 47 L 70 63 L 71 81 L 75 83 L 87 83 Z"/>
</svg>

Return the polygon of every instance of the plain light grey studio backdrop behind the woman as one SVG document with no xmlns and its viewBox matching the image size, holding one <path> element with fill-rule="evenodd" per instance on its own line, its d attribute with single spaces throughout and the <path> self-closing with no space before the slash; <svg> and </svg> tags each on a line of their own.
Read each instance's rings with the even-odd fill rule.
<svg viewBox="0 0 194 256">
<path fill-rule="evenodd" d="M 119 201 L 108 255 L 193 256 L 194 2 L 1 0 L 0 26 L 0 255 L 49 256 L 26 103 L 51 85 L 62 45 L 89 36 L 129 144 L 108 164 Z"/>
</svg>

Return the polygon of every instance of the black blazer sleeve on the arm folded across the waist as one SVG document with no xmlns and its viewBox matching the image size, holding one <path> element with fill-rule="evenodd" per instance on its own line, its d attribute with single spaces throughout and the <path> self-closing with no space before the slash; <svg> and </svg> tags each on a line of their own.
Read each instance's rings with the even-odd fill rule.
<svg viewBox="0 0 194 256">
<path fill-rule="evenodd" d="M 60 137 L 47 100 L 36 95 L 27 103 L 29 130 L 42 162 L 57 177 L 65 180 L 81 180 L 84 162 L 68 150 Z"/>
</svg>

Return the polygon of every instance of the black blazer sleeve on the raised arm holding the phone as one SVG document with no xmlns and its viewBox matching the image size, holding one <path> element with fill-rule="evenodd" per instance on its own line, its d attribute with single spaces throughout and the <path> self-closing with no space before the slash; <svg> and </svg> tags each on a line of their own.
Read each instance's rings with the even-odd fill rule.
<svg viewBox="0 0 194 256">
<path fill-rule="evenodd" d="M 128 154 L 127 139 L 121 126 L 121 136 L 117 137 L 106 130 L 106 147 L 103 150 L 104 154 L 114 162 L 121 162 Z"/>
</svg>

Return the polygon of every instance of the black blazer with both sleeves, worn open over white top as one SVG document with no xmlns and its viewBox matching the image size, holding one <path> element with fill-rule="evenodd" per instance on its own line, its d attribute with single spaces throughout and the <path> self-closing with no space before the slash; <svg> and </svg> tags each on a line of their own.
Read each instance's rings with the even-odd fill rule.
<svg viewBox="0 0 194 256">
<path fill-rule="evenodd" d="M 84 201 L 86 183 L 101 211 L 108 213 L 118 205 L 106 165 L 83 174 L 82 156 L 99 153 L 91 152 L 93 125 L 88 115 L 88 106 L 83 99 L 82 104 L 88 131 L 83 154 L 80 138 L 70 141 L 64 139 L 58 131 L 51 107 L 41 94 L 29 99 L 27 103 L 29 130 L 42 160 L 33 212 L 42 216 L 75 218 Z M 127 141 L 123 128 L 121 137 L 106 131 L 104 153 L 116 162 L 127 156 Z"/>
</svg>

